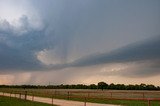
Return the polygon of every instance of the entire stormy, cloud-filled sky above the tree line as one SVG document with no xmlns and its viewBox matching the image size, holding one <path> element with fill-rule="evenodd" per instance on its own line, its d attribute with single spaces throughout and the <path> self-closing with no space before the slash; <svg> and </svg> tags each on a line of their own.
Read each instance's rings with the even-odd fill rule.
<svg viewBox="0 0 160 106">
<path fill-rule="evenodd" d="M 154 84 L 159 0 L 0 0 L 0 84 Z"/>
</svg>

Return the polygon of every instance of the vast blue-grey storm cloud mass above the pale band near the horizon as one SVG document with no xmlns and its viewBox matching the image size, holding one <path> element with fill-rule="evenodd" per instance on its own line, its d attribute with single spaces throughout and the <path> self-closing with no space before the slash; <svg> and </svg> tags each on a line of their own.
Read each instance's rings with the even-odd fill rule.
<svg viewBox="0 0 160 106">
<path fill-rule="evenodd" d="M 25 15 L 19 19 L 19 27 L 7 20 L 1 20 L 0 69 L 62 69 L 160 58 L 159 37 L 113 50 L 119 45 L 151 36 L 150 33 L 159 33 L 159 30 L 156 30 L 160 25 L 159 21 L 157 22 L 159 11 L 153 8 L 159 8 L 154 6 L 159 4 L 159 1 L 153 4 L 147 1 L 145 5 L 143 1 L 138 0 L 134 2 L 105 0 L 30 2 L 39 11 L 40 17 L 43 17 L 45 25 L 42 28 L 34 28 L 29 17 Z M 45 65 L 37 59 L 36 53 L 44 49 L 54 51 L 55 46 L 58 48 L 56 54 L 64 60 L 62 63 L 65 64 Z M 79 53 L 77 57 L 99 50 L 103 53 L 79 59 L 70 56 L 71 60 L 75 59 L 75 61 L 68 63 L 67 59 L 72 54 L 73 46 L 78 47 L 77 52 L 73 53 Z M 105 50 L 113 51 L 104 53 Z"/>
</svg>

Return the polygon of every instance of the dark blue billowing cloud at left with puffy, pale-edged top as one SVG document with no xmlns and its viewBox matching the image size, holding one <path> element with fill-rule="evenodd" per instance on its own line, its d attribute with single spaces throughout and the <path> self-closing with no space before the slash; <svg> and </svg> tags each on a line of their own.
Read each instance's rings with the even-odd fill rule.
<svg viewBox="0 0 160 106">
<path fill-rule="evenodd" d="M 54 48 L 52 35 L 43 29 L 33 28 L 28 17 L 23 15 L 13 26 L 6 20 L 0 23 L 0 70 L 41 70 L 42 64 L 36 53 Z M 53 44 L 54 45 L 54 44 Z"/>
</svg>

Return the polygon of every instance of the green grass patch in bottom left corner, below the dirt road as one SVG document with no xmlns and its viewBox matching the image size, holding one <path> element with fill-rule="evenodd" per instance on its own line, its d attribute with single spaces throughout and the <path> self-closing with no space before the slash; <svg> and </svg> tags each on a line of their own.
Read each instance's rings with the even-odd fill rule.
<svg viewBox="0 0 160 106">
<path fill-rule="evenodd" d="M 50 104 L 0 96 L 0 106 L 51 106 Z M 54 105 L 55 106 L 55 105 Z"/>
</svg>

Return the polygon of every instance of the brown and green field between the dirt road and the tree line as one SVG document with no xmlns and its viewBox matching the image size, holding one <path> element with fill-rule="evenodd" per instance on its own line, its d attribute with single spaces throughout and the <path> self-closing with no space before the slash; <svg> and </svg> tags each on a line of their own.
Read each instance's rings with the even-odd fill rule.
<svg viewBox="0 0 160 106">
<path fill-rule="evenodd" d="M 2 92 L 31 96 L 119 104 L 125 106 L 160 106 L 160 91 L 75 90 L 75 89 L 0 89 Z M 155 100 L 148 101 L 148 98 Z M 157 100 L 156 100 L 157 99 Z"/>
</svg>

